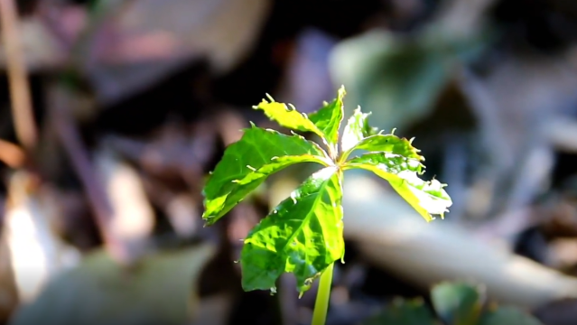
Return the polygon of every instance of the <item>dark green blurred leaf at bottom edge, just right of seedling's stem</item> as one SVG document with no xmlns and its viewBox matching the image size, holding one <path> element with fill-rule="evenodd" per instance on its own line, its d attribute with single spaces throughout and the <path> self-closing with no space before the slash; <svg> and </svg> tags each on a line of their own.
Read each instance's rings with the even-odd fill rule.
<svg viewBox="0 0 577 325">
<path fill-rule="evenodd" d="M 371 317 L 364 325 L 437 325 L 433 313 L 422 300 L 405 301 L 396 299 L 384 311 Z"/>
</svg>

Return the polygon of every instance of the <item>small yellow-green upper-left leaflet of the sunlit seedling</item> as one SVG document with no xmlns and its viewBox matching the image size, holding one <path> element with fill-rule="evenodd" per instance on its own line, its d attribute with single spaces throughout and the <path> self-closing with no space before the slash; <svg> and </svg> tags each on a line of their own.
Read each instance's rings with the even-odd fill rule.
<svg viewBox="0 0 577 325">
<path fill-rule="evenodd" d="M 302 114 L 291 104 L 287 106 L 284 103 L 275 102 L 272 97 L 269 97 L 269 99 L 270 102 L 263 99 L 258 106 L 253 108 L 261 109 L 265 116 L 276 121 L 281 126 L 296 131 L 312 132 L 324 138 L 324 133 L 306 114 Z"/>
</svg>

